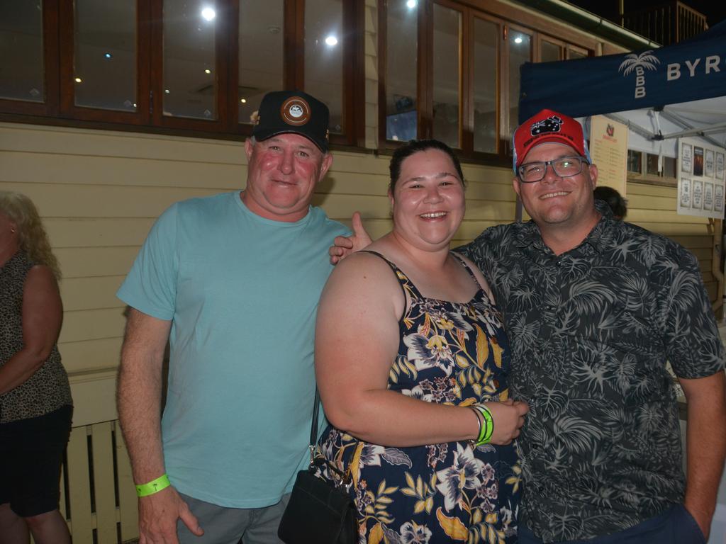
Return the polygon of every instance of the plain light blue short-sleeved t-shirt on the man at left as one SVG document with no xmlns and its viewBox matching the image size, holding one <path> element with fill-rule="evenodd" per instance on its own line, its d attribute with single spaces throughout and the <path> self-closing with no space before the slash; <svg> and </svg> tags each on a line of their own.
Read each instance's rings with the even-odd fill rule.
<svg viewBox="0 0 726 544">
<path fill-rule="evenodd" d="M 117 296 L 172 320 L 162 438 L 181 493 L 269 506 L 309 462 L 315 316 L 340 234 L 317 207 L 261 218 L 239 191 L 179 202 L 152 227 Z"/>
</svg>

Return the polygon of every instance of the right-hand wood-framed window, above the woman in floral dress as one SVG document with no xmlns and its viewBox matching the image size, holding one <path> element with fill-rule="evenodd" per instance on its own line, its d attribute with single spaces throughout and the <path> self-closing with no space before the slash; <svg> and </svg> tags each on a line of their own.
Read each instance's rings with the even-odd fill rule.
<svg viewBox="0 0 726 544">
<path fill-rule="evenodd" d="M 504 164 L 518 125 L 520 67 L 559 60 L 581 34 L 497 0 L 380 0 L 378 140 L 436 138 L 462 158 Z M 545 37 L 541 30 L 552 36 Z M 582 41 L 582 40 L 581 40 Z"/>
</svg>

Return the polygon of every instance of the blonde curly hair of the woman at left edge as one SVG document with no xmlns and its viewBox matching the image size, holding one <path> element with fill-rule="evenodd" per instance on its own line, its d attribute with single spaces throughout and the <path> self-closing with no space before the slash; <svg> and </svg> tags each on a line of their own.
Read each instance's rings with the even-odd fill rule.
<svg viewBox="0 0 726 544">
<path fill-rule="evenodd" d="M 15 223 L 20 249 L 28 254 L 33 263 L 50 268 L 55 278 L 60 281 L 58 260 L 50 248 L 48 235 L 33 201 L 22 193 L 0 191 L 0 213 L 4 213 Z"/>
</svg>

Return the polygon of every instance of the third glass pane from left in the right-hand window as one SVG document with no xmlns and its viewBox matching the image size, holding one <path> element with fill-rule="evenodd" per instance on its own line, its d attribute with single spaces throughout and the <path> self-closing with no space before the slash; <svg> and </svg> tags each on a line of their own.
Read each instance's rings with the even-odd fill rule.
<svg viewBox="0 0 726 544">
<path fill-rule="evenodd" d="M 499 25 L 474 19 L 474 151 L 497 152 Z"/>
</svg>

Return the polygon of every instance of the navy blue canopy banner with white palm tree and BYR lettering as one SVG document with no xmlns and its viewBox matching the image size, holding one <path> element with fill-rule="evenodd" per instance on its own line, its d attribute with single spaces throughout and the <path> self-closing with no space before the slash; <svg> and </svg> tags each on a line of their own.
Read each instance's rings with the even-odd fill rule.
<svg viewBox="0 0 726 544">
<path fill-rule="evenodd" d="M 526 62 L 520 88 L 520 123 L 544 108 L 585 117 L 725 96 L 726 21 L 672 46 Z"/>
</svg>

